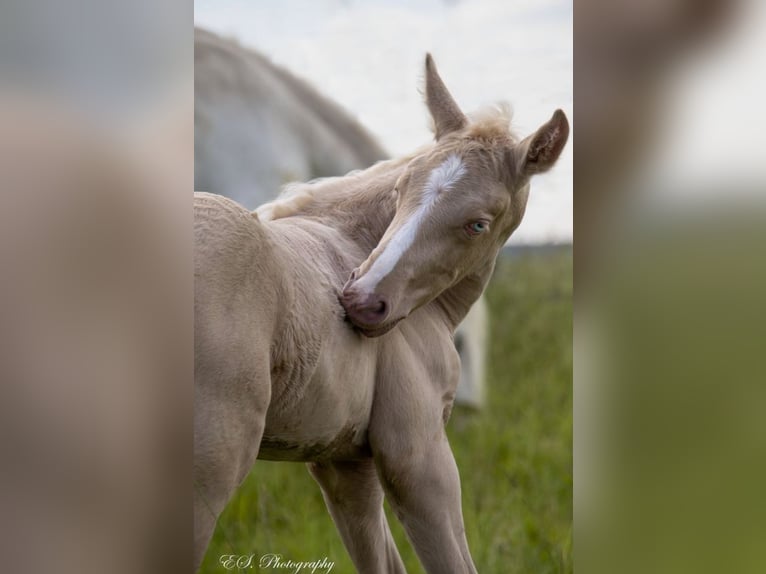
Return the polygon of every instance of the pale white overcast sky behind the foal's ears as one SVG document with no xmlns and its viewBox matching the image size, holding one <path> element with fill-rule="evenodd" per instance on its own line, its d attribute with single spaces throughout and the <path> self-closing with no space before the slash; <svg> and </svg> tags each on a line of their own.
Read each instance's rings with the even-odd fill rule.
<svg viewBox="0 0 766 574">
<path fill-rule="evenodd" d="M 196 0 L 195 23 L 258 48 L 341 103 L 394 155 L 431 138 L 430 51 L 464 111 L 509 101 L 527 135 L 572 122 L 572 6 L 562 0 Z M 532 184 L 512 243 L 572 239 L 572 145 Z"/>
</svg>

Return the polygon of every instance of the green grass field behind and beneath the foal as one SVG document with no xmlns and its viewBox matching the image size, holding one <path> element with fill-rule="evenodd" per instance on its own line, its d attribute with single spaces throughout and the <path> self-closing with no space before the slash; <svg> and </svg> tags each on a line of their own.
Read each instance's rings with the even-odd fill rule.
<svg viewBox="0 0 766 574">
<path fill-rule="evenodd" d="M 572 250 L 529 250 L 498 262 L 487 408 L 448 425 L 463 489 L 468 544 L 481 573 L 572 572 Z M 407 571 L 423 572 L 387 509 Z M 256 463 L 222 514 L 201 572 L 222 554 L 335 562 L 354 568 L 302 464 Z M 236 571 L 236 570 L 234 570 Z M 301 570 L 301 572 L 311 570 Z M 317 570 L 317 572 L 326 570 Z"/>
</svg>

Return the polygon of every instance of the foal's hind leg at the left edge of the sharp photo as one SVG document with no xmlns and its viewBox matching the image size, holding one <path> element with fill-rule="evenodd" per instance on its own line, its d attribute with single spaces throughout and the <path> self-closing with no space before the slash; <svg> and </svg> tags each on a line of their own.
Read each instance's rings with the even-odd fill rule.
<svg viewBox="0 0 766 574">
<path fill-rule="evenodd" d="M 255 381 L 255 384 L 252 382 Z M 218 516 L 255 463 L 271 396 L 268 375 L 195 384 L 194 571 Z"/>
</svg>

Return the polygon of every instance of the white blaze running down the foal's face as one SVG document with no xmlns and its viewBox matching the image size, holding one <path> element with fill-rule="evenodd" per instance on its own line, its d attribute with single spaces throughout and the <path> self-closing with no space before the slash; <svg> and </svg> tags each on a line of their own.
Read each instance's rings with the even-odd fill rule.
<svg viewBox="0 0 766 574">
<path fill-rule="evenodd" d="M 449 189 L 465 174 L 463 160 L 451 155 L 428 176 L 428 182 L 420 198 L 420 206 L 410 218 L 404 222 L 386 245 L 383 253 L 375 260 L 365 276 L 369 281 L 370 290 L 391 273 L 396 264 L 412 246 L 417 236 L 420 224 L 439 198 L 440 192 Z"/>
</svg>

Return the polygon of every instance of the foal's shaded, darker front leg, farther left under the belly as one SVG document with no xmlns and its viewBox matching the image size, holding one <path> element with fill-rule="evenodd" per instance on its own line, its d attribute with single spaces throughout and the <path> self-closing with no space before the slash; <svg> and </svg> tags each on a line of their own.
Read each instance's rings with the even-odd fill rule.
<svg viewBox="0 0 766 574">
<path fill-rule="evenodd" d="M 314 462 L 308 468 L 356 569 L 362 574 L 405 573 L 383 512 L 374 461 Z"/>
</svg>

